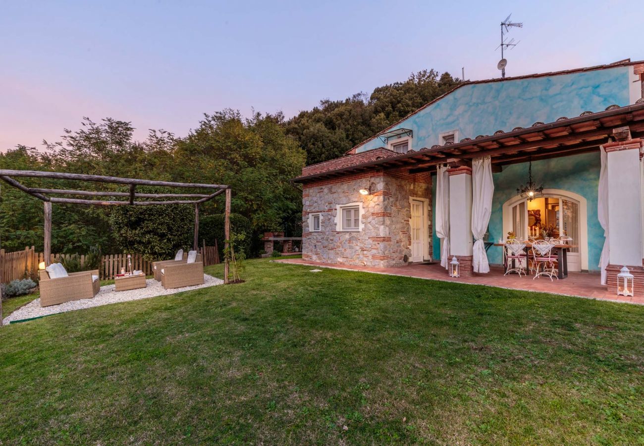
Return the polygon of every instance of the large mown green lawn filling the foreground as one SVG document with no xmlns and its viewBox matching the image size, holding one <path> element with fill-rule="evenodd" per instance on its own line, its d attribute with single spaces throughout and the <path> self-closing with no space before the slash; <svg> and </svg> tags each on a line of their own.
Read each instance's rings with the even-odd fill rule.
<svg viewBox="0 0 644 446">
<path fill-rule="evenodd" d="M 0 442 L 644 443 L 644 307 L 268 260 L 0 329 Z"/>
</svg>

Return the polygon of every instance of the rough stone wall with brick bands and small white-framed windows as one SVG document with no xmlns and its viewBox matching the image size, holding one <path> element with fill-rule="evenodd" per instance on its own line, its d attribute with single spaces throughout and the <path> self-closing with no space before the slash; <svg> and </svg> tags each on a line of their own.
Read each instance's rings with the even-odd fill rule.
<svg viewBox="0 0 644 446">
<path fill-rule="evenodd" d="M 371 193 L 360 189 L 370 185 Z M 303 186 L 302 257 L 331 264 L 390 267 L 411 257 L 410 197 L 428 199 L 425 258 L 431 253 L 431 177 L 406 171 L 371 172 Z M 337 206 L 359 202 L 362 229 L 337 231 Z M 309 215 L 319 213 L 320 231 L 309 230 Z"/>
</svg>

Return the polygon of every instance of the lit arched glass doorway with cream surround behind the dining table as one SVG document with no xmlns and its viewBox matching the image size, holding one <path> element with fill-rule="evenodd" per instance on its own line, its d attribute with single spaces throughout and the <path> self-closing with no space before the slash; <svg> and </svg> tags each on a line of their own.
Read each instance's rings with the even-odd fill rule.
<svg viewBox="0 0 644 446">
<path fill-rule="evenodd" d="M 578 246 L 569 251 L 568 270 L 588 270 L 588 217 L 586 199 L 562 189 L 544 189 L 543 195 L 528 201 L 513 197 L 503 204 L 503 235 L 514 231 L 516 237 L 540 235 L 548 228 L 552 237 L 567 235 Z"/>
</svg>

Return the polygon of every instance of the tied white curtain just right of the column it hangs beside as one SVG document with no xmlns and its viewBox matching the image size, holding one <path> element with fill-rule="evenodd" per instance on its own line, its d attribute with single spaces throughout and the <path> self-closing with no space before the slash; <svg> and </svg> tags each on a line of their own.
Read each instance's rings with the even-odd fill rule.
<svg viewBox="0 0 644 446">
<path fill-rule="evenodd" d="M 489 217 L 492 215 L 492 160 L 490 157 L 472 160 L 472 234 L 474 252 L 472 267 L 475 273 L 489 273 L 488 254 L 485 252 L 483 237 L 488 230 Z"/>
</svg>

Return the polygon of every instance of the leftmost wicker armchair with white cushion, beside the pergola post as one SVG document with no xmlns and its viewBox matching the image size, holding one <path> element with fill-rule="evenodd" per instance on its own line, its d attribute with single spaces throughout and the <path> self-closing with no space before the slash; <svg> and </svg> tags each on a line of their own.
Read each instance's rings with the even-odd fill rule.
<svg viewBox="0 0 644 446">
<path fill-rule="evenodd" d="M 40 271 L 41 307 L 62 304 L 70 300 L 93 298 L 100 290 L 100 280 L 93 280 L 99 270 L 70 273 L 67 277 L 50 278 L 44 269 Z"/>
</svg>

